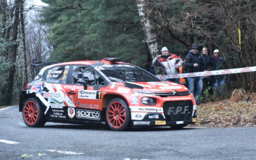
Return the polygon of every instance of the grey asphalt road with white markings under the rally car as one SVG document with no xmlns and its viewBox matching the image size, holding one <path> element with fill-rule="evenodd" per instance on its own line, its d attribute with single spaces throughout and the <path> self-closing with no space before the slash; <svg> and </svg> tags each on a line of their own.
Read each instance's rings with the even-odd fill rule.
<svg viewBox="0 0 256 160">
<path fill-rule="evenodd" d="M 0 159 L 256 159 L 255 132 L 170 127 L 115 132 L 104 125 L 49 122 L 30 128 L 15 106 L 0 109 Z"/>
</svg>

